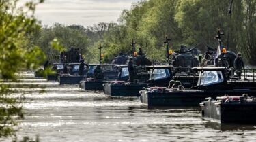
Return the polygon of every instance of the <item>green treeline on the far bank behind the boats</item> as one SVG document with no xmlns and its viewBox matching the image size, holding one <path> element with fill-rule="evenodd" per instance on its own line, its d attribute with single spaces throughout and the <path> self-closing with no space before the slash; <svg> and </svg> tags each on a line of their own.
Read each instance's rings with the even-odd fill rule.
<svg viewBox="0 0 256 142">
<path fill-rule="evenodd" d="M 255 0 L 148 0 L 124 10 L 117 23 L 99 23 L 94 26 L 63 26 L 55 24 L 44 27 L 38 38 L 46 54 L 54 53 L 49 48 L 53 38 L 64 47 L 82 48 L 85 60 L 98 61 L 98 46 L 102 44 L 104 62 L 110 62 L 120 51 L 130 52 L 132 39 L 137 48 L 151 59 L 164 61 L 166 36 L 171 38 L 171 48 L 180 45 L 206 45 L 216 48 L 214 39 L 221 29 L 223 46 L 234 52 L 242 52 L 251 65 L 256 65 L 256 1 Z"/>
</svg>

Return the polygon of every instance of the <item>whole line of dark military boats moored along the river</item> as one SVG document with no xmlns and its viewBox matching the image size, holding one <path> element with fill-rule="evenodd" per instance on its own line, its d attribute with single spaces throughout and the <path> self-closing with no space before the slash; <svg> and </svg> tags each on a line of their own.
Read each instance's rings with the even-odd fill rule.
<svg viewBox="0 0 256 142">
<path fill-rule="evenodd" d="M 168 40 L 165 43 L 170 60 L 173 52 L 169 51 Z M 221 46 L 219 48 L 221 50 Z M 187 52 L 182 54 L 189 57 Z M 54 63 L 56 73 L 47 75 L 47 79 L 58 81 L 60 85 L 79 84 L 85 91 L 100 90 L 117 99 L 138 97 L 148 108 L 201 106 L 202 116 L 206 119 L 256 123 L 256 71 L 226 67 L 227 64 L 223 64 L 225 54 L 224 49 L 221 67 L 200 67 L 191 62 L 191 58 L 182 59 L 182 63 L 190 62 L 190 66 L 177 66 L 179 60 L 175 60 L 176 66 L 172 63 L 134 65 L 134 82 L 128 82 L 126 64 L 100 64 L 104 77 L 96 79 L 97 64 L 85 64 L 83 75 L 78 75 L 79 63 Z M 68 72 L 63 73 L 64 68 Z M 35 72 L 35 76 L 39 74 Z"/>
</svg>

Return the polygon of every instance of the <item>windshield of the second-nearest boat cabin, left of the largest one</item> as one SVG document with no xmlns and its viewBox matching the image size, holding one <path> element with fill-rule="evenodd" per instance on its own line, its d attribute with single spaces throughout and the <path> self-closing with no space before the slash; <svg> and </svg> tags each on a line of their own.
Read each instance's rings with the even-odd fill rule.
<svg viewBox="0 0 256 142">
<path fill-rule="evenodd" d="M 150 79 L 158 80 L 170 77 L 169 69 L 150 69 Z"/>
</svg>

